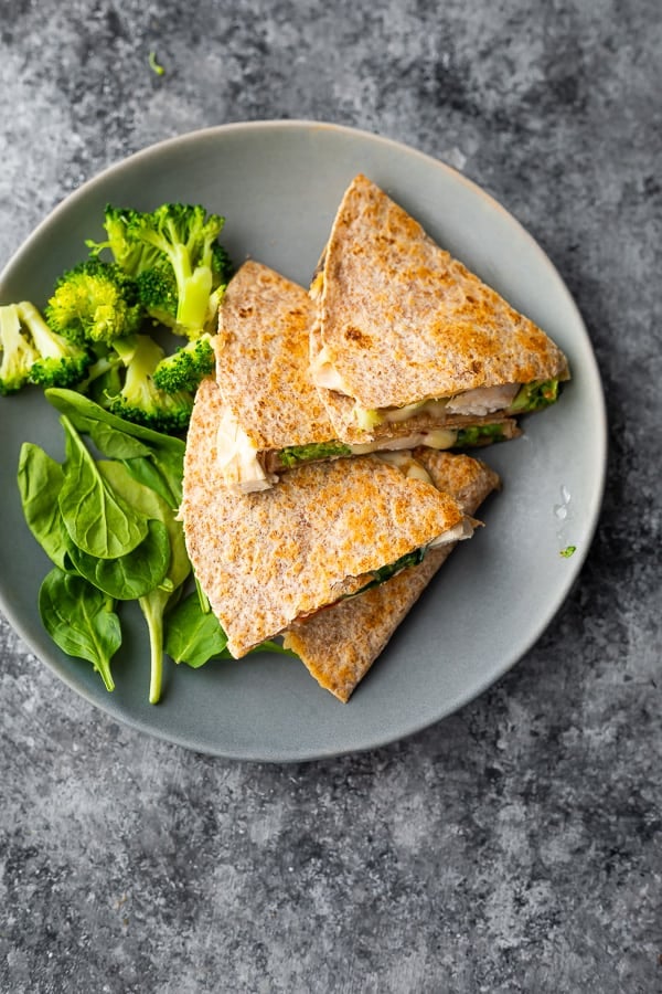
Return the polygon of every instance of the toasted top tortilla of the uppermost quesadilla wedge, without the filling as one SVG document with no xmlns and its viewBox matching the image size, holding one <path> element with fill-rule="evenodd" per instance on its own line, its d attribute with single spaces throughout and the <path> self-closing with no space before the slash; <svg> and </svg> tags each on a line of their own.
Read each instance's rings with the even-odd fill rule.
<svg viewBox="0 0 662 994">
<path fill-rule="evenodd" d="M 569 376 L 541 328 L 362 175 L 338 209 L 322 272 L 320 342 L 361 408 Z"/>
</svg>

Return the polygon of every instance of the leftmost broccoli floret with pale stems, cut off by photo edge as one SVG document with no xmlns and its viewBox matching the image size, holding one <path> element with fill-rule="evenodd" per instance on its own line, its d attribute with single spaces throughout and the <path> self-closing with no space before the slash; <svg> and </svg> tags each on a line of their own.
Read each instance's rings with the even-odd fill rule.
<svg viewBox="0 0 662 994">
<path fill-rule="evenodd" d="M 29 300 L 0 307 L 0 393 L 13 393 L 28 382 L 73 387 L 92 361 L 87 349 L 52 331 Z"/>
</svg>

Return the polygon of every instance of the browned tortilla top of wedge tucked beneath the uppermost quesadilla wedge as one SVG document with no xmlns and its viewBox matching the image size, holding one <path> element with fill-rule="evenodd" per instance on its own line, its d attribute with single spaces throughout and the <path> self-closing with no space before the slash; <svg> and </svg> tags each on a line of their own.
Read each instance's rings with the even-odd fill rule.
<svg viewBox="0 0 662 994">
<path fill-rule="evenodd" d="M 302 287 L 253 260 L 225 292 L 214 340 L 218 387 L 260 451 L 335 438 L 309 374 L 313 313 Z"/>
</svg>

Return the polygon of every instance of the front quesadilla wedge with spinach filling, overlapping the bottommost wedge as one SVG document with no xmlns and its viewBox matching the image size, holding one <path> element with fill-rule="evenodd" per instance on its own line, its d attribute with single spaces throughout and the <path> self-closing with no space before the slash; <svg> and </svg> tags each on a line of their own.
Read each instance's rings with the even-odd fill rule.
<svg viewBox="0 0 662 994">
<path fill-rule="evenodd" d="M 203 380 L 180 516 L 196 580 L 235 657 L 430 549 L 470 537 L 478 524 L 420 478 L 423 467 L 405 474 L 375 456 L 303 464 L 278 487 L 234 494 L 218 468 L 222 409 L 217 384 Z"/>
</svg>

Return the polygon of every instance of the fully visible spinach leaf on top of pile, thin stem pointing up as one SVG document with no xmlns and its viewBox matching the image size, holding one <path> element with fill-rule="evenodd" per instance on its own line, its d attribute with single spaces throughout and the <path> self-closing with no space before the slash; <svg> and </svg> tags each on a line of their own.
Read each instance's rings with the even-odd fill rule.
<svg viewBox="0 0 662 994">
<path fill-rule="evenodd" d="M 117 559 L 147 535 L 147 517 L 116 495 L 66 416 L 66 462 L 58 504 L 72 541 L 89 556 Z"/>
</svg>

